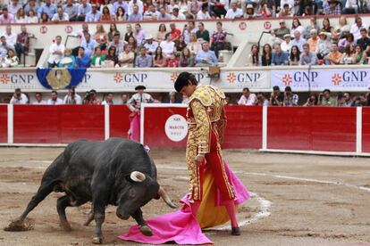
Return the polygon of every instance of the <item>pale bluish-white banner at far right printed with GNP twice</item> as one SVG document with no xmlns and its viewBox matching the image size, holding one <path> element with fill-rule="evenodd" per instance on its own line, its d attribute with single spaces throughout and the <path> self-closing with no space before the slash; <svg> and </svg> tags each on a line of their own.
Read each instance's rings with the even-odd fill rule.
<svg viewBox="0 0 370 246">
<path fill-rule="evenodd" d="M 272 70 L 273 86 L 290 86 L 293 91 L 324 90 L 362 91 L 370 86 L 370 69 Z"/>
</svg>

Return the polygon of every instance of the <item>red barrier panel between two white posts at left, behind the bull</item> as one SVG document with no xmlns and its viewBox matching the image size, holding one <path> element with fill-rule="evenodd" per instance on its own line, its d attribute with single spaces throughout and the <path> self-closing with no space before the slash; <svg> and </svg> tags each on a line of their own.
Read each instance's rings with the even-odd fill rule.
<svg viewBox="0 0 370 246">
<path fill-rule="evenodd" d="M 104 106 L 14 105 L 14 143 L 103 140 Z"/>
</svg>

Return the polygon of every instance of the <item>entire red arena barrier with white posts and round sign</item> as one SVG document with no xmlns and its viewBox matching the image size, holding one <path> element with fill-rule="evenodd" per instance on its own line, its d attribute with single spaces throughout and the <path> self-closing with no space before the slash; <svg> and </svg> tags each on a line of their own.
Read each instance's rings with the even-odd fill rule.
<svg viewBox="0 0 370 246">
<path fill-rule="evenodd" d="M 227 106 L 226 111 L 223 148 L 347 155 L 370 152 L 367 108 Z M 129 115 L 124 105 L 0 105 L 0 143 L 54 145 L 81 138 L 127 137 Z M 184 148 L 185 116 L 184 104 L 143 105 L 141 142 L 151 147 Z"/>
</svg>

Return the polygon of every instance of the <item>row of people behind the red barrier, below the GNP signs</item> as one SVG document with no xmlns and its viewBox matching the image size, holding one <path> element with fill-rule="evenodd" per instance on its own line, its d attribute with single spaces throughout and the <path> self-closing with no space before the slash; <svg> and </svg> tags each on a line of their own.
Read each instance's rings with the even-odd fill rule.
<svg viewBox="0 0 370 246">
<path fill-rule="evenodd" d="M 90 90 L 83 96 L 77 94 L 74 88 L 68 90 L 67 94 L 59 97 L 58 92 L 52 91 L 48 100 L 44 100 L 43 94 L 36 93 L 33 102 L 29 102 L 29 97 L 21 93 L 21 89 L 15 89 L 12 98 L 4 100 L 5 103 L 11 104 L 33 104 L 33 105 L 61 105 L 61 104 L 108 104 L 119 105 L 127 104 L 130 100 L 130 94 L 122 94 L 121 98 L 114 101 L 113 93 L 103 94 L 100 99 L 96 90 Z M 189 98 L 180 96 L 175 92 L 169 94 L 156 94 L 156 103 L 188 103 Z M 116 98 L 117 99 L 117 98 Z M 370 92 L 367 94 L 351 94 L 349 92 L 332 94 L 329 89 L 325 89 L 319 94 L 308 94 L 307 100 L 299 101 L 299 95 L 291 91 L 290 86 L 286 86 L 284 91 L 281 91 L 279 86 L 273 86 L 272 93 L 251 93 L 248 88 L 242 90 L 239 98 L 226 95 L 227 105 L 240 106 L 324 106 L 324 107 L 362 107 L 370 106 Z"/>
</svg>

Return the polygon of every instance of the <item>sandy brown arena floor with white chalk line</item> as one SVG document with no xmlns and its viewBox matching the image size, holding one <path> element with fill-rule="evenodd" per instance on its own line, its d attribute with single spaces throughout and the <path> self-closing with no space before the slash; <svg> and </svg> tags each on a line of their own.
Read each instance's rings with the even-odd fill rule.
<svg viewBox="0 0 370 246">
<path fill-rule="evenodd" d="M 0 148 L 0 227 L 18 217 L 38 189 L 41 176 L 62 148 Z M 248 151 L 225 151 L 231 168 L 254 193 L 240 208 L 242 235 L 212 230 L 215 245 L 370 245 L 370 159 Z M 159 182 L 178 201 L 188 189 L 184 152 L 153 150 Z M 29 214 L 34 229 L 9 233 L 0 230 L 0 245 L 90 245 L 94 223 L 83 222 L 89 205 L 67 209 L 73 231 L 58 225 L 56 198 L 50 194 Z M 144 207 L 145 217 L 172 211 L 162 201 Z M 105 243 L 135 222 L 106 210 Z"/>
</svg>

